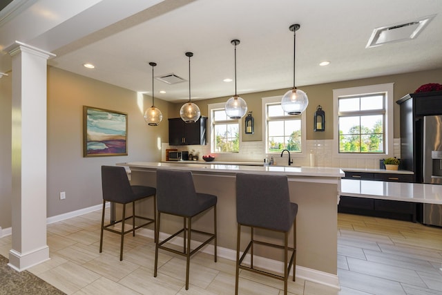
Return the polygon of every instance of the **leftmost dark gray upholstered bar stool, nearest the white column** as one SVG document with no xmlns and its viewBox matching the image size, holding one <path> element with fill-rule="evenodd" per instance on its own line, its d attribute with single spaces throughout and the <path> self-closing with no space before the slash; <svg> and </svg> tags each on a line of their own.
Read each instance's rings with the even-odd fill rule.
<svg viewBox="0 0 442 295">
<path fill-rule="evenodd" d="M 141 227 L 145 227 L 146 225 L 150 225 L 151 223 L 153 223 L 153 226 L 155 227 L 155 222 L 157 220 L 157 211 L 155 209 L 156 189 L 155 187 L 131 185 L 127 177 L 126 169 L 124 169 L 124 167 L 119 167 L 119 166 L 102 166 L 102 187 L 103 187 L 103 213 L 102 213 L 102 231 L 99 238 L 99 253 L 102 253 L 103 249 L 103 230 L 112 231 L 113 233 L 122 236 L 121 246 L 119 249 L 119 260 L 121 261 L 123 260 L 124 235 L 133 232 L 133 236 L 135 236 L 136 229 L 140 229 Z M 151 197 L 153 197 L 153 208 L 154 208 L 153 218 L 135 216 L 135 201 Z M 123 213 L 121 220 L 117 220 L 115 222 L 109 223 L 108 225 L 104 225 L 104 209 L 106 208 L 106 201 L 123 205 Z M 126 217 L 126 204 L 128 203 L 132 203 L 132 216 Z M 132 218 L 132 228 L 125 231 L 124 222 L 130 218 Z M 146 222 L 144 222 L 142 225 L 135 226 L 135 218 L 146 220 Z M 115 229 L 110 228 L 119 222 L 122 222 L 121 231 L 117 231 Z"/>
</svg>

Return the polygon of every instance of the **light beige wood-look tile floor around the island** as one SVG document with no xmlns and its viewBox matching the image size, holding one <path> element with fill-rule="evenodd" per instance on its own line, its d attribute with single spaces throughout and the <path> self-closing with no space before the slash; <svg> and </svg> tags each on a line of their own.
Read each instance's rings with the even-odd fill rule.
<svg viewBox="0 0 442 295">
<path fill-rule="evenodd" d="M 185 260 L 160 251 L 153 278 L 151 238 L 126 235 L 119 261 L 119 236 L 105 232 L 98 253 L 101 211 L 48 225 L 50 257 L 29 269 L 66 294 L 233 294 L 235 263 L 198 253 L 184 289 Z M 442 229 L 365 216 L 338 216 L 338 276 L 341 290 L 308 280 L 289 280 L 289 294 L 442 295 Z M 8 257 L 10 236 L 0 239 Z M 283 294 L 282 282 L 242 273 L 240 294 Z"/>
</svg>

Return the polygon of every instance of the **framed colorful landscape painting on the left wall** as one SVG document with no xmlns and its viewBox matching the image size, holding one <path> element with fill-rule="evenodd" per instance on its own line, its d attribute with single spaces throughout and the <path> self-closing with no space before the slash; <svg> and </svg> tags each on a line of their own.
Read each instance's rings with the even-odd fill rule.
<svg viewBox="0 0 442 295">
<path fill-rule="evenodd" d="M 127 155 L 128 115 L 83 106 L 83 157 Z"/>
</svg>

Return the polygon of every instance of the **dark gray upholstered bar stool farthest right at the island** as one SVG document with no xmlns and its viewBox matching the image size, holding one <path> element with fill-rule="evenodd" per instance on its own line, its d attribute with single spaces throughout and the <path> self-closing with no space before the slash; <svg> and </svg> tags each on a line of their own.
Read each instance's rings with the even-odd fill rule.
<svg viewBox="0 0 442 295">
<path fill-rule="evenodd" d="M 236 174 L 236 220 L 238 222 L 238 240 L 236 246 L 236 284 L 238 294 L 240 269 L 245 269 L 271 278 L 284 281 L 284 294 L 287 294 L 287 280 L 293 265 L 293 280 L 296 268 L 296 213 L 298 204 L 290 202 L 289 184 L 285 175 Z M 240 258 L 241 226 L 251 227 L 249 245 Z M 293 247 L 289 247 L 289 231 L 293 227 Z M 284 234 L 284 245 L 271 244 L 255 240 L 253 229 L 266 229 Z M 253 267 L 253 245 L 264 245 L 284 249 L 284 276 L 272 274 Z M 282 244 L 282 243 L 281 243 Z M 250 250 L 250 265 L 243 265 L 242 260 Z M 291 251 L 291 258 L 288 253 Z"/>
</svg>

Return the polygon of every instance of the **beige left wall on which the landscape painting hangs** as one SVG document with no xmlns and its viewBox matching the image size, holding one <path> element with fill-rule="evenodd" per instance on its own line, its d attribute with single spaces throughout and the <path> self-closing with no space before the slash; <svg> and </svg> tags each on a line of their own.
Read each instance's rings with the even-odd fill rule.
<svg viewBox="0 0 442 295">
<path fill-rule="evenodd" d="M 164 121 L 147 126 L 143 115 L 151 97 L 48 68 L 48 217 L 101 204 L 102 165 L 161 160 L 158 142 L 169 141 L 169 103 L 160 99 L 155 103 Z M 128 155 L 83 158 L 83 106 L 128 114 Z M 65 200 L 59 200 L 61 191 L 66 192 Z"/>
</svg>

